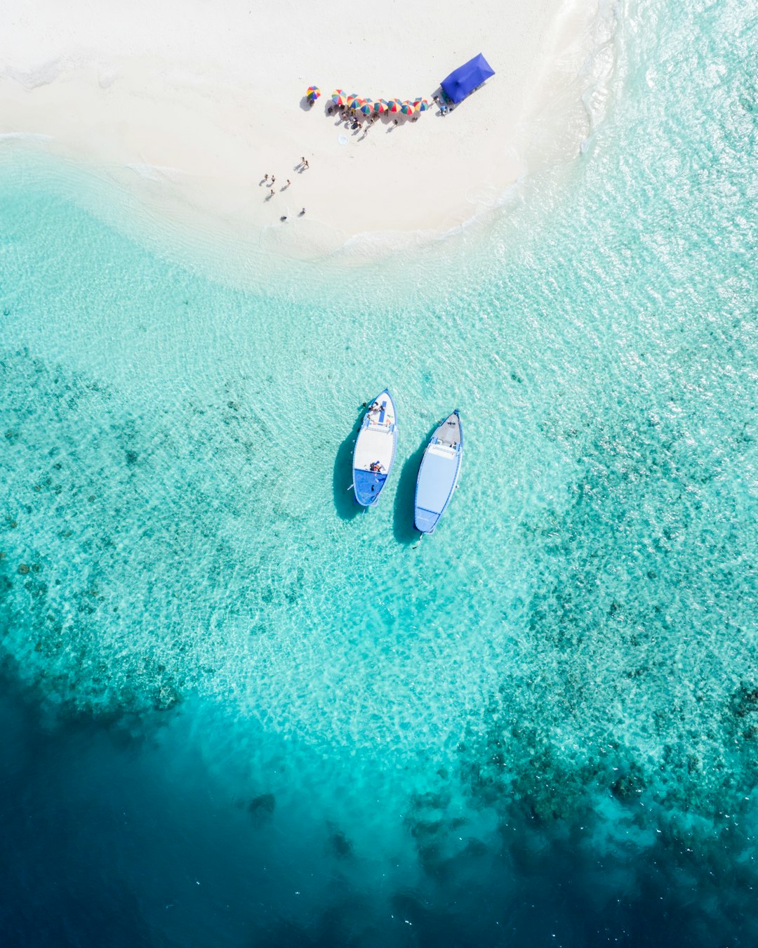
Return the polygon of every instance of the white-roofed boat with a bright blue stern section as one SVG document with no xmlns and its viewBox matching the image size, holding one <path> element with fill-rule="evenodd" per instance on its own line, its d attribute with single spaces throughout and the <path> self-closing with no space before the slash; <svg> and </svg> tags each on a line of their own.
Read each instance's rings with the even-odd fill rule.
<svg viewBox="0 0 758 948">
<path fill-rule="evenodd" d="M 352 489 L 361 506 L 372 507 L 379 500 L 395 461 L 396 447 L 397 411 L 385 389 L 363 416 L 352 452 Z"/>
</svg>

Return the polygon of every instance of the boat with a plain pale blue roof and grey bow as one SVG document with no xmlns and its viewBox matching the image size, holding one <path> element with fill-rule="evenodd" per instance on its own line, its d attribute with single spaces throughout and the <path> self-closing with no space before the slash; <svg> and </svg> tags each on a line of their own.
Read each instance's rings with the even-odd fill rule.
<svg viewBox="0 0 758 948">
<path fill-rule="evenodd" d="M 463 458 L 463 429 L 456 409 L 438 426 L 424 451 L 416 480 L 414 522 L 423 534 L 434 533 L 453 497 Z"/>
</svg>

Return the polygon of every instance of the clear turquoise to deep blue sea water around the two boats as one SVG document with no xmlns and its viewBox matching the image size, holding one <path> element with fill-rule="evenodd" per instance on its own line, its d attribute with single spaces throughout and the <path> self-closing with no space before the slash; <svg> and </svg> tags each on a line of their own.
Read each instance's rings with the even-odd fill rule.
<svg viewBox="0 0 758 948">
<path fill-rule="evenodd" d="M 4 943 L 756 943 L 755 20 L 616 15 L 580 157 L 348 272 L 2 143 Z"/>
</svg>

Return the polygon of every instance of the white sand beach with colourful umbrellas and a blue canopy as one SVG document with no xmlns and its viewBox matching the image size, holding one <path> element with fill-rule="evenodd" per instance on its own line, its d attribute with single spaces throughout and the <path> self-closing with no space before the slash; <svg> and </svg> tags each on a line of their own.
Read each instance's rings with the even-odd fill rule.
<svg viewBox="0 0 758 948">
<path fill-rule="evenodd" d="M 577 153 L 596 11 L 596 0 L 9 0 L 0 135 L 49 137 L 41 147 L 91 163 L 161 214 L 189 210 L 288 255 L 363 233 L 390 244 L 439 235 L 496 207 L 546 156 Z M 430 99 L 479 52 L 496 75 L 446 117 L 384 118 L 364 135 L 325 114 L 337 87 Z M 311 83 L 323 93 L 313 108 Z"/>
</svg>

